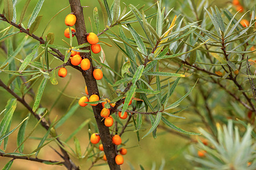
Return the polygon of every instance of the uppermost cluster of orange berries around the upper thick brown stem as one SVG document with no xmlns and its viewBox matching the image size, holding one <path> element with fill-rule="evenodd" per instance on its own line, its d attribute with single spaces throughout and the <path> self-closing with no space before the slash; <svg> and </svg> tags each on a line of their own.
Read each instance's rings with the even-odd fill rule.
<svg viewBox="0 0 256 170">
<path fill-rule="evenodd" d="M 74 14 L 68 14 L 65 18 L 65 24 L 67 26 L 71 27 L 71 32 L 72 32 L 72 37 L 75 36 L 76 30 L 72 28 L 72 26 L 76 23 L 76 15 Z M 69 28 L 65 29 L 64 31 L 64 36 L 67 37 L 68 39 L 70 38 L 69 35 Z M 101 51 L 101 46 L 98 43 L 98 36 L 90 32 L 88 36 L 86 36 L 86 40 L 91 44 L 91 49 L 93 53 L 100 53 Z M 73 47 L 72 47 L 73 48 Z M 70 61 L 72 65 L 74 66 L 81 66 L 82 70 L 89 70 L 90 69 L 90 60 L 88 58 L 82 59 L 80 56 L 80 52 L 75 52 L 72 50 L 72 48 L 69 48 L 68 53 L 71 52 L 70 56 Z M 60 77 L 65 77 L 67 75 L 67 69 L 65 67 L 61 67 L 58 71 L 58 75 Z M 93 76 L 96 80 L 100 80 L 103 77 L 101 69 L 95 69 L 93 70 Z"/>
</svg>

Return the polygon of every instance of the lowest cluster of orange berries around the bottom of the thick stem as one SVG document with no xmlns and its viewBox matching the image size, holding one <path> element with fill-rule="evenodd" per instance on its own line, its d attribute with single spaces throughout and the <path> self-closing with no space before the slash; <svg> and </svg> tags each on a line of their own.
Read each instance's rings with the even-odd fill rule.
<svg viewBox="0 0 256 170">
<path fill-rule="evenodd" d="M 92 142 L 93 144 L 97 144 L 98 142 L 100 142 L 100 140 L 101 140 L 100 134 L 93 133 L 90 136 L 90 142 Z M 114 145 L 121 145 L 122 139 L 121 139 L 121 137 L 119 135 L 116 134 L 116 135 L 113 136 L 112 142 L 114 143 Z M 100 144 L 98 148 L 101 151 L 104 151 L 104 148 L 103 148 L 102 144 Z M 118 165 L 121 165 L 121 164 L 123 164 L 123 156 L 122 155 L 126 155 L 127 154 L 127 150 L 126 150 L 126 148 L 121 147 L 118 151 L 119 151 L 119 153 L 121 155 L 117 154 L 115 156 L 115 163 L 117 163 Z M 103 156 L 103 159 L 107 160 L 106 159 L 106 155 Z"/>
</svg>

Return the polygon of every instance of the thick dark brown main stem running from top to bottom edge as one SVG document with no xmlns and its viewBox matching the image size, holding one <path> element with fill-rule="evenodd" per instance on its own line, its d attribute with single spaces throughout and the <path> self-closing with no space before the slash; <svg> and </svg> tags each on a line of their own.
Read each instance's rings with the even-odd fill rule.
<svg viewBox="0 0 256 170">
<path fill-rule="evenodd" d="M 77 42 L 79 45 L 84 44 L 88 42 L 86 40 L 86 35 L 88 35 L 88 33 L 86 32 L 86 27 L 84 22 L 84 13 L 82 12 L 83 9 L 82 9 L 80 0 L 69 0 L 69 4 L 71 5 L 71 11 L 73 12 L 73 14 L 76 15 L 75 28 L 76 28 Z M 88 50 L 90 49 L 90 47 L 88 46 L 81 49 Z M 82 58 L 87 58 L 90 61 L 89 69 L 86 71 L 82 71 L 82 75 L 84 76 L 85 83 L 88 89 L 88 94 L 89 96 L 91 95 L 100 96 L 96 79 L 93 76 L 93 65 L 92 65 L 92 58 L 90 58 L 90 52 L 80 53 L 80 55 Z M 100 113 L 102 110 L 102 105 L 97 104 L 92 108 L 93 108 L 94 117 L 97 122 L 98 130 L 100 132 L 101 141 L 104 147 L 104 152 L 108 160 L 109 167 L 110 169 L 120 169 L 119 165 L 115 163 L 116 151 L 115 151 L 115 146 L 112 143 L 112 137 L 110 135 L 109 128 L 105 126 L 104 122 L 101 121 L 102 118 L 100 116 Z"/>
</svg>

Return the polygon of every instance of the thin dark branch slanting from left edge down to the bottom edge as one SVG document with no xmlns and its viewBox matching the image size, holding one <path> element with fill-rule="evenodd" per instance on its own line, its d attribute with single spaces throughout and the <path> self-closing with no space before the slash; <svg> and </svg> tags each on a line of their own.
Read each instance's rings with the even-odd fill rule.
<svg viewBox="0 0 256 170">
<path fill-rule="evenodd" d="M 28 109 L 28 111 L 30 111 L 31 114 L 33 114 L 33 116 L 37 119 L 40 120 L 40 118 L 42 118 L 42 116 L 36 114 L 33 109 L 30 107 L 30 105 L 28 105 L 28 103 L 21 97 L 19 97 L 17 94 L 15 94 L 15 92 L 13 90 L 11 90 L 8 86 L 6 86 L 5 83 L 2 82 L 2 80 L 0 79 L 0 87 L 3 87 L 7 92 L 9 92 L 11 95 L 13 95 L 20 103 L 22 103 L 24 105 L 24 107 L 26 107 Z M 46 129 L 49 129 L 49 124 L 46 121 L 45 118 L 42 118 L 40 124 Z M 61 143 L 61 141 L 59 140 L 59 138 L 56 138 L 56 140 L 60 143 L 60 145 L 63 146 L 63 144 Z M 76 167 L 76 165 L 72 162 L 72 160 L 69 158 L 68 153 L 63 150 L 63 148 L 60 147 L 61 152 L 63 153 L 63 155 L 61 155 L 61 157 L 65 160 L 64 165 L 65 167 L 67 167 L 67 169 L 79 169 L 79 167 Z"/>
</svg>

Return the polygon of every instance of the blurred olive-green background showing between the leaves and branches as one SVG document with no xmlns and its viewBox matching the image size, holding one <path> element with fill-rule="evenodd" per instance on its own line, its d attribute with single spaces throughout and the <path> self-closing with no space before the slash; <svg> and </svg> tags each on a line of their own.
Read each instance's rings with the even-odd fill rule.
<svg viewBox="0 0 256 170">
<path fill-rule="evenodd" d="M 19 19 L 20 11 L 23 8 L 25 1 L 18 1 L 16 5 L 16 11 L 17 11 L 17 20 Z M 108 1 L 109 4 L 112 3 L 112 1 Z M 146 5 L 150 6 L 152 2 L 154 1 L 135 1 L 135 0 L 129 0 L 129 1 L 121 1 L 126 3 L 126 5 L 129 5 L 130 3 L 133 5 Z M 212 3 L 212 5 L 217 5 L 218 7 L 225 7 L 226 5 L 229 5 L 229 1 L 209 1 Z M 36 5 L 37 1 L 31 1 L 28 10 L 26 12 L 26 18 L 23 20 L 23 24 L 27 25 L 28 19 L 30 18 L 30 15 L 32 11 L 34 10 L 34 7 Z M 166 8 L 172 8 L 174 7 L 175 10 L 179 9 L 180 3 L 183 3 L 183 5 L 187 5 L 187 1 L 182 1 L 180 3 L 177 3 L 175 0 L 170 0 L 170 3 L 172 4 L 171 6 L 168 6 Z M 2 3 L 3 4 L 3 3 Z M 0 6 L 0 11 L 3 10 L 3 5 L 1 4 Z M 42 22 L 40 23 L 40 28 L 35 32 L 35 35 L 42 35 L 42 31 L 44 29 L 44 25 L 46 25 L 49 20 L 52 18 L 53 15 L 55 15 L 59 10 L 62 8 L 68 6 L 69 3 L 68 1 L 49 1 L 46 0 L 44 2 L 44 5 L 42 7 L 42 10 L 40 11 L 39 15 L 43 15 Z M 97 1 L 81 1 L 82 6 L 89 6 L 84 8 L 84 16 L 85 16 L 85 24 L 86 24 L 86 29 L 88 32 L 95 31 L 94 28 L 94 23 L 93 23 L 93 29 L 90 27 L 90 23 L 88 20 L 88 17 L 93 20 L 93 8 L 98 7 L 98 10 L 100 10 L 100 5 L 98 5 Z M 121 5 L 121 8 L 123 8 L 123 4 Z M 152 9 L 152 11 L 154 11 Z M 188 8 L 188 10 L 190 10 Z M 64 24 L 64 18 L 67 14 L 69 14 L 70 8 L 67 8 L 63 12 L 61 12 L 59 15 L 57 15 L 49 24 L 48 28 L 46 29 L 46 32 L 44 33 L 44 36 L 47 35 L 48 32 L 53 32 L 55 34 L 55 42 L 54 44 L 58 45 L 64 45 L 65 43 L 61 40 L 64 39 L 66 41 L 69 41 L 67 38 L 64 37 L 64 29 L 67 28 L 67 26 Z M 175 15 L 175 11 L 172 11 L 172 15 Z M 102 15 L 100 12 L 100 20 L 102 22 Z M 0 22 L 0 28 L 5 28 L 7 27 L 8 24 Z M 133 27 L 140 32 L 141 27 L 139 27 L 138 24 L 133 24 Z M 101 27 L 101 29 L 103 29 Z M 24 35 L 19 34 L 16 39 L 22 39 Z M 45 38 L 45 37 L 43 37 Z M 33 40 L 31 40 L 33 41 Z M 74 39 L 74 45 L 77 44 L 76 39 Z M 107 41 L 108 42 L 108 41 Z M 106 54 L 106 61 L 109 63 L 110 66 L 113 66 L 114 64 L 114 56 L 117 54 L 117 49 L 113 46 L 110 48 L 109 46 L 103 46 L 104 52 Z M 95 54 L 94 54 L 95 55 Z M 96 55 L 97 56 L 97 55 Z M 21 56 L 17 56 L 18 58 L 21 58 Z M 119 62 L 121 61 L 122 55 L 119 54 Z M 5 61 L 5 56 L 3 56 L 3 52 L 0 53 L 0 61 L 3 62 Z M 50 60 L 51 61 L 51 60 Z M 55 67 L 58 65 L 61 65 L 62 62 L 60 61 L 54 61 L 51 65 L 51 67 Z M 66 78 L 57 78 L 59 84 L 56 86 L 53 86 L 51 83 L 48 82 L 46 90 L 44 91 L 43 97 L 42 97 L 42 102 L 41 104 L 45 108 L 51 108 L 52 103 L 55 101 L 56 97 L 59 95 L 60 91 L 64 88 L 65 84 L 67 84 L 68 80 L 71 79 L 71 82 L 68 84 L 68 87 L 65 90 L 65 94 L 69 96 L 77 96 L 81 97 L 82 93 L 84 93 L 84 87 L 85 87 L 85 82 L 82 77 L 82 75 L 76 71 L 73 70 L 71 67 L 67 67 L 68 70 L 68 76 Z M 6 78 L 5 73 L 0 73 L 1 79 L 5 80 Z M 6 83 L 6 82 L 5 82 Z M 189 86 L 191 87 L 194 82 L 191 82 Z M 101 91 L 104 92 L 104 88 L 107 87 L 100 87 Z M 34 91 L 36 91 L 37 87 L 34 87 Z M 7 100 L 10 99 L 10 95 L 3 90 L 3 88 L 0 88 L 1 92 L 1 103 L 0 103 L 0 110 L 2 111 L 3 108 L 5 108 L 5 105 L 7 103 Z M 177 88 L 175 92 L 178 92 L 179 94 L 183 94 L 183 88 Z M 177 95 L 179 95 L 177 94 Z M 101 94 L 104 95 L 104 94 Z M 106 95 L 104 95 L 106 96 Z M 108 96 L 106 96 L 108 97 Z M 32 105 L 33 100 L 30 96 L 26 96 L 26 100 L 28 103 Z M 53 108 L 51 112 L 51 120 L 58 116 L 58 118 L 63 115 L 68 107 L 69 104 L 72 103 L 72 99 L 67 96 L 61 96 L 60 100 L 58 101 L 57 105 Z M 187 107 L 185 100 L 181 103 L 181 105 L 184 107 Z M 188 106 L 189 107 L 189 106 Z M 187 117 L 185 120 L 177 120 L 173 119 L 172 122 L 175 123 L 175 125 L 179 126 L 180 128 L 184 128 L 185 130 L 188 131 L 196 131 L 195 127 L 196 125 L 191 125 L 189 122 L 189 112 L 191 110 L 188 108 L 186 111 L 183 113 L 180 113 L 179 116 L 184 116 Z M 21 118 L 24 118 L 27 115 L 26 109 L 22 105 L 18 103 L 17 109 L 15 111 L 15 121 L 12 123 L 12 127 L 16 126 L 19 124 Z M 92 118 L 92 122 L 95 122 L 93 119 L 93 113 L 90 112 L 90 107 L 89 105 L 87 108 L 78 108 L 76 113 L 71 117 L 71 120 L 68 120 L 65 122 L 64 125 L 62 125 L 59 129 L 57 129 L 57 133 L 61 134 L 64 133 L 61 138 L 65 139 L 67 138 L 73 130 L 75 130 L 83 121 L 85 121 L 88 118 Z M 31 116 L 30 121 L 28 123 L 28 128 L 26 131 L 26 134 L 30 131 L 30 129 L 36 124 L 36 120 L 34 117 Z M 150 126 L 147 124 L 143 124 L 143 129 L 145 129 L 143 133 L 146 133 L 146 129 L 149 129 Z M 132 128 L 130 128 L 132 129 Z M 92 128 L 92 131 L 94 129 Z M 45 133 L 46 131 L 39 127 L 36 129 L 34 134 L 32 135 L 33 137 L 41 137 L 42 133 Z M 16 138 L 17 132 L 15 132 L 13 135 L 11 135 L 9 139 L 9 145 L 7 147 L 6 152 L 13 152 L 13 150 L 16 147 L 15 143 L 15 138 Z M 82 129 L 77 135 L 77 138 L 79 138 L 79 141 L 81 143 L 81 148 L 82 151 L 85 150 L 86 146 L 89 143 L 88 140 L 88 126 L 85 126 L 84 129 Z M 165 162 L 165 168 L 164 169 L 191 169 L 192 165 L 185 160 L 183 151 L 185 148 L 188 146 L 188 141 L 179 137 L 178 135 L 173 135 L 170 134 L 166 131 L 163 131 L 161 129 L 158 129 L 158 138 L 154 139 L 152 138 L 152 135 L 148 135 L 146 138 L 144 138 L 141 142 L 137 142 L 137 137 L 136 134 L 133 131 L 129 131 L 125 133 L 122 137 L 123 141 L 126 141 L 129 139 L 129 141 L 126 143 L 126 148 L 128 153 L 127 155 L 124 156 L 125 163 L 122 165 L 122 169 L 130 169 L 129 164 L 133 165 L 135 169 L 139 169 L 139 164 L 143 165 L 145 169 L 151 169 L 152 165 L 156 165 L 156 169 L 160 167 L 160 164 L 162 162 Z M 195 137 L 196 139 L 196 137 Z M 35 139 L 29 139 L 27 143 L 25 143 L 25 152 L 31 152 L 34 150 L 40 141 L 35 140 Z M 68 142 L 69 145 L 72 147 L 73 145 L 73 140 L 70 140 Z M 51 145 L 56 146 L 55 143 L 52 143 Z M 134 147 L 137 146 L 137 147 Z M 52 160 L 60 160 L 59 156 L 55 154 L 55 152 L 49 147 L 46 146 L 45 150 L 42 150 L 39 154 L 39 158 L 42 159 L 52 159 Z M 75 162 L 79 162 L 79 160 L 76 160 L 75 158 L 72 158 Z M 3 168 L 5 163 L 7 163 L 10 159 L 6 158 L 1 158 L 0 157 L 0 168 Z M 103 161 L 100 161 L 100 163 L 104 163 Z M 81 169 L 88 169 L 90 166 L 90 161 L 88 162 L 81 162 Z M 59 166 L 52 166 L 52 165 L 45 165 L 45 164 L 40 164 L 40 163 L 35 163 L 35 162 L 28 162 L 26 160 L 15 160 L 13 163 L 13 167 L 11 169 L 27 169 L 27 170 L 34 170 L 34 169 L 65 169 L 64 167 L 59 167 Z M 102 167 L 94 167 L 92 169 L 109 169 L 108 166 L 102 166 Z"/>
</svg>

